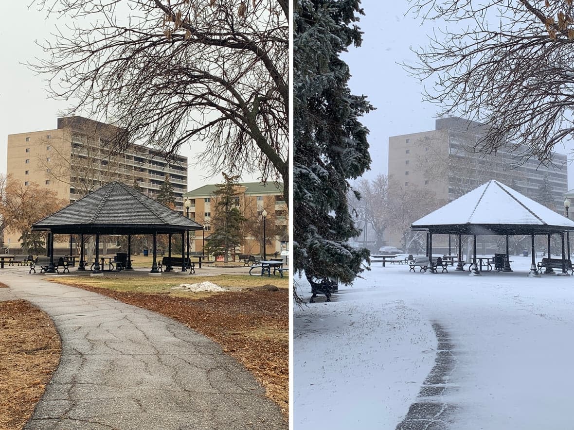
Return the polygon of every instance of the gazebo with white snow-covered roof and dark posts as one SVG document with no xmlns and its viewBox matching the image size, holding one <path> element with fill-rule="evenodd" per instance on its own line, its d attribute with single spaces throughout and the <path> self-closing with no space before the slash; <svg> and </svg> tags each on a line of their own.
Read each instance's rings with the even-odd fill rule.
<svg viewBox="0 0 574 430">
<path fill-rule="evenodd" d="M 461 236 L 472 235 L 474 239 L 472 271 L 475 274 L 478 274 L 476 266 L 476 236 L 478 234 L 506 236 L 505 271 L 511 271 L 508 236 L 530 235 L 532 238 L 530 275 L 534 276 L 538 273 L 534 253 L 534 236 L 547 234 L 548 248 L 550 248 L 550 235 L 560 234 L 563 261 L 565 261 L 564 232 L 574 230 L 574 222 L 493 179 L 413 222 L 410 228 L 428 232 L 429 256 L 432 255 L 433 233 L 457 234 L 459 237 L 458 270 L 463 269 Z"/>
</svg>

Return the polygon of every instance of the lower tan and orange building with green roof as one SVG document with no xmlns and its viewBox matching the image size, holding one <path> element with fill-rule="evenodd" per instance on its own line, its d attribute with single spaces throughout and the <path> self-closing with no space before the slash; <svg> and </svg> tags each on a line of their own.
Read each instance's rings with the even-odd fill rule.
<svg viewBox="0 0 574 430">
<path fill-rule="evenodd" d="M 189 217 L 204 225 L 204 232 L 195 232 L 195 237 L 190 239 L 191 249 L 194 251 L 203 251 L 204 237 L 213 233 L 210 221 L 215 208 L 215 205 L 211 204 L 215 190 L 215 185 L 204 185 L 183 195 L 186 200 L 191 202 Z M 259 182 L 239 183 L 236 196 L 239 210 L 247 221 L 243 232 L 245 239 L 241 248 L 238 249 L 238 253 L 254 255 L 261 253 L 263 210 L 267 212 L 266 252 L 270 254 L 282 251 L 281 242 L 288 241 L 289 233 L 288 209 L 282 193 L 282 183 L 267 182 L 265 186 Z"/>
</svg>

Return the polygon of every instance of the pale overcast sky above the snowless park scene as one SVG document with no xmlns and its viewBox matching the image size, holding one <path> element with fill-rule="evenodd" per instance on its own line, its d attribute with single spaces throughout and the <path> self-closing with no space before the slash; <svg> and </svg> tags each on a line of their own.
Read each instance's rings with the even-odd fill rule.
<svg viewBox="0 0 574 430">
<path fill-rule="evenodd" d="M 32 0 L 30 0 L 32 1 Z M 59 111 L 64 111 L 68 104 L 48 99 L 46 84 L 42 76 L 26 68 L 24 63 L 34 57 L 43 57 L 44 53 L 34 41 L 54 40 L 50 35 L 55 29 L 56 20 L 45 20 L 46 14 L 36 9 L 28 9 L 30 1 L 18 0 L 3 2 L 4 19 L 0 27 L 0 57 L 3 59 L 0 68 L 0 172 L 6 173 L 6 140 L 7 135 L 26 131 L 50 130 L 56 128 Z M 59 27 L 65 22 L 57 21 Z M 181 155 L 193 157 L 203 147 L 195 144 L 184 145 Z M 207 169 L 189 166 L 188 187 L 195 189 L 207 183 L 221 180 L 218 175 L 205 178 Z M 257 175 L 243 175 L 243 181 L 257 181 Z"/>
</svg>

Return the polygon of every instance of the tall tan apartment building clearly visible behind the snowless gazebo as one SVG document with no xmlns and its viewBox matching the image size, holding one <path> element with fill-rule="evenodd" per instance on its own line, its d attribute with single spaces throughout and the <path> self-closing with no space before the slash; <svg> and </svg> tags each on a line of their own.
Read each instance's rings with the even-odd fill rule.
<svg viewBox="0 0 574 430">
<path fill-rule="evenodd" d="M 53 189 L 70 202 L 110 181 L 137 183 L 154 198 L 166 174 L 180 209 L 187 191 L 186 157 L 165 159 L 153 148 L 130 143 L 123 128 L 81 116 L 58 118 L 54 130 L 8 135 L 6 173 L 24 185 Z M 7 239 L 15 244 L 18 236 Z"/>
</svg>

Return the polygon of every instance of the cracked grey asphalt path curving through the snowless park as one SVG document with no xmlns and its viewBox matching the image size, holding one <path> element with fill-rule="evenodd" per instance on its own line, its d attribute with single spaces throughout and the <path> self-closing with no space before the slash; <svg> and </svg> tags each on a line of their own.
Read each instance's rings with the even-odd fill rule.
<svg viewBox="0 0 574 430">
<path fill-rule="evenodd" d="M 3 296 L 46 311 L 60 365 L 26 429 L 286 429 L 276 404 L 220 346 L 172 319 L 27 270 Z M 2 288 L 6 290 L 6 288 Z"/>
</svg>

